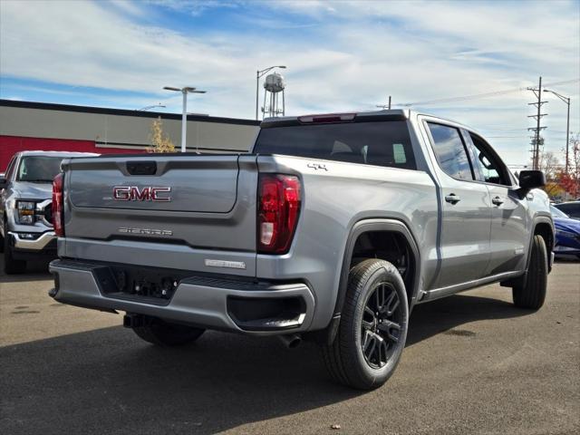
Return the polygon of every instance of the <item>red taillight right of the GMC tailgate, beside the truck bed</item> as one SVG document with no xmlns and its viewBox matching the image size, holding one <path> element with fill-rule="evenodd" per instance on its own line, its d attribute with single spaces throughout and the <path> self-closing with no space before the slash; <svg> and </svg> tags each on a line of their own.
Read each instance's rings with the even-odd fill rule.
<svg viewBox="0 0 580 435">
<path fill-rule="evenodd" d="M 285 254 L 300 213 L 300 180 L 292 175 L 263 174 L 258 186 L 257 250 Z"/>
</svg>

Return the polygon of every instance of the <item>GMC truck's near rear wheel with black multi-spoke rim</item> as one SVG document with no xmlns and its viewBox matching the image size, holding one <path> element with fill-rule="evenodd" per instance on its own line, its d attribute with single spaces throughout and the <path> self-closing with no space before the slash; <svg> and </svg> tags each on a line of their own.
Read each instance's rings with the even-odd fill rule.
<svg viewBox="0 0 580 435">
<path fill-rule="evenodd" d="M 408 323 L 407 293 L 397 268 L 378 259 L 354 266 L 338 333 L 332 344 L 322 344 L 333 380 L 359 390 L 387 382 L 401 359 Z"/>
</svg>

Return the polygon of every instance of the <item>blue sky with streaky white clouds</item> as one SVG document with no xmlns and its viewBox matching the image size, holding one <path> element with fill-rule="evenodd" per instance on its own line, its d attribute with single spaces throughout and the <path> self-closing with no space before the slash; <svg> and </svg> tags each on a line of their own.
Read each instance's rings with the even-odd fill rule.
<svg viewBox="0 0 580 435">
<path fill-rule="evenodd" d="M 580 1 L 0 2 L 0 98 L 179 112 L 165 85 L 208 91 L 189 111 L 253 118 L 256 69 L 285 64 L 288 114 L 413 106 L 482 131 L 510 164 L 529 159 L 539 75 L 572 97 L 580 131 Z M 570 82 L 574 81 L 575 82 Z M 546 150 L 565 145 L 547 95 Z"/>
</svg>

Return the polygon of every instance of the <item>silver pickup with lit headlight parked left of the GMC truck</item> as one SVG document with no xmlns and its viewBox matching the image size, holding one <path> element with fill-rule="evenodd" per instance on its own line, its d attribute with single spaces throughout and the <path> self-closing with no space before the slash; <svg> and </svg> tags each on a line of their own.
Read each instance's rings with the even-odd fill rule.
<svg viewBox="0 0 580 435">
<path fill-rule="evenodd" d="M 24 272 L 26 261 L 56 257 L 52 183 L 64 158 L 86 152 L 22 151 L 0 177 L 0 252 L 6 274 Z"/>
</svg>

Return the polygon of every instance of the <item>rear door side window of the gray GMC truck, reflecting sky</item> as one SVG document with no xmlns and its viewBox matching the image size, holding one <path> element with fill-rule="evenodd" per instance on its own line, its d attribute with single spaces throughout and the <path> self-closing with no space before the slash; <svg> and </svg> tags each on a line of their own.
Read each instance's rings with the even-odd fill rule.
<svg viewBox="0 0 580 435">
<path fill-rule="evenodd" d="M 469 163 L 467 149 L 459 130 L 448 125 L 428 122 L 433 150 L 440 168 L 454 179 L 473 180 L 474 175 Z"/>
</svg>

